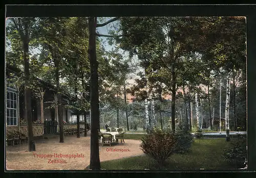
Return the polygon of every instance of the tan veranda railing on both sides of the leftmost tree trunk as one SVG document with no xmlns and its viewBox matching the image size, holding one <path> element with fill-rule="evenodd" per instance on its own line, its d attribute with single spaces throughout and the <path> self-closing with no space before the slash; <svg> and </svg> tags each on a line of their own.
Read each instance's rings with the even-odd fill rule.
<svg viewBox="0 0 256 178">
<path fill-rule="evenodd" d="M 18 131 L 18 126 L 7 126 L 7 131 L 14 132 Z M 20 126 L 19 132 L 28 136 L 27 126 Z M 42 136 L 44 135 L 44 125 L 33 125 L 33 136 Z"/>
</svg>

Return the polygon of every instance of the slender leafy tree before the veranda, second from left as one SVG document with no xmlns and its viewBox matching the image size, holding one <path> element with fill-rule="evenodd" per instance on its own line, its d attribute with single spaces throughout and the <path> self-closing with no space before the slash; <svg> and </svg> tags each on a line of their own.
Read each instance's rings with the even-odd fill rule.
<svg viewBox="0 0 256 178">
<path fill-rule="evenodd" d="M 65 17 L 46 17 L 40 19 L 40 41 L 42 46 L 46 47 L 50 52 L 50 63 L 54 66 L 54 79 L 57 94 L 57 115 L 59 124 L 59 142 L 64 142 L 63 132 L 63 105 L 61 102 L 61 66 L 63 64 L 63 47 L 66 43 L 66 24 L 69 18 Z M 45 26 L 48 24 L 48 26 Z"/>
</svg>

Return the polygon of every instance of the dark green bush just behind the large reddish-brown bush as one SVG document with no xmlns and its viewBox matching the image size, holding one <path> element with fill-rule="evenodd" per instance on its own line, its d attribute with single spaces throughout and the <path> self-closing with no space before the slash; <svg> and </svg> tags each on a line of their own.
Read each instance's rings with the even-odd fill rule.
<svg viewBox="0 0 256 178">
<path fill-rule="evenodd" d="M 190 152 L 191 144 L 194 140 L 193 135 L 189 131 L 177 130 L 175 133 L 175 138 L 175 153 L 184 154 Z"/>
</svg>

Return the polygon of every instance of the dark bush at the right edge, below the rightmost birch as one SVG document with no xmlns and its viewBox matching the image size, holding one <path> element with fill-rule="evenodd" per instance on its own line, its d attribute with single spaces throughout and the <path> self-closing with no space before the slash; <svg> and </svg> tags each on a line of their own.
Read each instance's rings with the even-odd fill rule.
<svg viewBox="0 0 256 178">
<path fill-rule="evenodd" d="M 232 147 L 224 150 L 224 160 L 234 168 L 244 167 L 247 157 L 246 139 L 238 137 L 236 141 L 233 141 L 230 144 Z"/>
</svg>

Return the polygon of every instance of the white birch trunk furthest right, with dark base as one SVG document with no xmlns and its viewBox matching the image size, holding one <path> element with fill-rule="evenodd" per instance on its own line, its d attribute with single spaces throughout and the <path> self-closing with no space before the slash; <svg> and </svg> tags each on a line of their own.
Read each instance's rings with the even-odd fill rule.
<svg viewBox="0 0 256 178">
<path fill-rule="evenodd" d="M 227 90 L 226 90 L 226 109 L 225 109 L 225 120 L 226 120 L 226 141 L 230 141 L 229 135 L 229 98 L 230 98 L 230 82 L 229 76 L 227 77 Z"/>
</svg>

